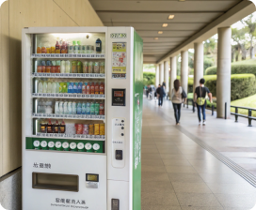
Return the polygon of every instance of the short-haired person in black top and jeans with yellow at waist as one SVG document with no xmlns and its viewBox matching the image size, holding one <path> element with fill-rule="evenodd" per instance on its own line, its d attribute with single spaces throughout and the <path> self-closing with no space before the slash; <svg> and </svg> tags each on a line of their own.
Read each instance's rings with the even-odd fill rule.
<svg viewBox="0 0 256 210">
<path fill-rule="evenodd" d="M 197 103 L 198 108 L 198 117 L 199 117 L 199 125 L 201 123 L 200 112 L 202 113 L 202 125 L 206 125 L 206 116 L 205 116 L 205 108 L 206 108 L 206 93 L 210 98 L 211 103 L 213 102 L 212 94 L 208 87 L 204 86 L 205 80 L 200 79 L 200 86 L 196 87 L 194 93 L 194 102 Z"/>
</svg>

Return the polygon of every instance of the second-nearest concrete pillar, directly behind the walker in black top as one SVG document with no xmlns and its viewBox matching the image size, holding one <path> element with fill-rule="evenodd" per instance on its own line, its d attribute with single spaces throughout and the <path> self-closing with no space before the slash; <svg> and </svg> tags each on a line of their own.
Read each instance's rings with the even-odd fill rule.
<svg viewBox="0 0 256 210">
<path fill-rule="evenodd" d="M 193 92 L 203 78 L 203 43 L 194 43 L 194 86 Z"/>
</svg>

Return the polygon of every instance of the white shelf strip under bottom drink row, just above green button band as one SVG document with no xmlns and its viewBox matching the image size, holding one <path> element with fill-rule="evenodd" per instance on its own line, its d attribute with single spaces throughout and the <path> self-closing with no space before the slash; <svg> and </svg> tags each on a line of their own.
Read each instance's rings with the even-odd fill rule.
<svg viewBox="0 0 256 210">
<path fill-rule="evenodd" d="M 30 136 L 32 138 L 42 137 L 46 139 L 62 139 L 62 140 L 88 140 L 88 141 L 105 141 L 104 135 L 85 135 L 85 134 L 63 134 L 63 133 L 40 133 Z"/>
</svg>

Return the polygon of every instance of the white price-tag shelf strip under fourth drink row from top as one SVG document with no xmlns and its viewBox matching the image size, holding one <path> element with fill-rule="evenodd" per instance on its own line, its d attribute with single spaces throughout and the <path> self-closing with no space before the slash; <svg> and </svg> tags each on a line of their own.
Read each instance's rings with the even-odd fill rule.
<svg viewBox="0 0 256 210">
<path fill-rule="evenodd" d="M 74 119 L 74 120 L 104 120 L 104 115 L 91 114 L 55 114 L 32 113 L 33 118 Z"/>
</svg>

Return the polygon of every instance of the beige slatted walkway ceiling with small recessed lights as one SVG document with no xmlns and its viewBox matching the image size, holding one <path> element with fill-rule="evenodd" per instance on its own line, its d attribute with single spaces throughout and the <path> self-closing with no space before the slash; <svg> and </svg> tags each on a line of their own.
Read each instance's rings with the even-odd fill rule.
<svg viewBox="0 0 256 210">
<path fill-rule="evenodd" d="M 177 50 L 183 50 L 184 43 L 185 46 L 191 45 L 188 40 L 192 37 L 196 40 L 201 36 L 200 32 L 203 29 L 208 27 L 207 31 L 210 31 L 212 28 L 209 24 L 217 22 L 227 11 L 237 8 L 242 2 L 254 1 L 89 0 L 89 2 L 105 26 L 135 27 L 144 41 L 144 63 L 159 63 L 171 54 L 177 53 Z M 169 15 L 174 15 L 174 18 L 168 20 Z M 227 16 L 226 19 L 229 17 Z M 168 26 L 163 27 L 163 23 L 168 23 Z M 204 30 L 204 33 L 207 31 Z M 161 32 L 162 34 L 159 34 Z M 208 36 L 213 35 L 208 33 Z"/>
</svg>

